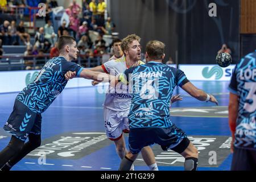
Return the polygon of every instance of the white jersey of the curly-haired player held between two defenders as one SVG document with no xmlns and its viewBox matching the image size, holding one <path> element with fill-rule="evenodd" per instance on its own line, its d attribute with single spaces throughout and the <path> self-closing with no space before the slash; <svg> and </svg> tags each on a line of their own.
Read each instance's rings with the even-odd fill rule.
<svg viewBox="0 0 256 182">
<path fill-rule="evenodd" d="M 144 64 L 140 61 L 140 64 Z M 110 60 L 101 65 L 102 69 L 106 73 L 113 73 L 114 76 L 119 75 L 120 73 L 125 72 L 127 67 L 125 56 L 122 56 L 116 60 Z M 109 92 L 106 93 L 106 98 L 103 106 L 115 110 L 115 111 L 125 111 L 130 109 L 131 104 L 131 94 L 127 92 L 127 85 L 117 86 L 117 88 L 110 89 Z"/>
</svg>

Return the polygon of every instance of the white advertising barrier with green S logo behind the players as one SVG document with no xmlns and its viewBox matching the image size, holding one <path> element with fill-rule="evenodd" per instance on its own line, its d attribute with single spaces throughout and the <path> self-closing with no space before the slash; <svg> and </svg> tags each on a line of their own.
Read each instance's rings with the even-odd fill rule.
<svg viewBox="0 0 256 182">
<path fill-rule="evenodd" d="M 171 65 L 174 66 L 175 65 Z M 180 65 L 189 80 L 229 81 L 235 65 L 221 68 L 217 65 Z M 39 70 L 33 71 L 1 71 L 0 93 L 20 92 L 30 82 L 35 80 Z M 74 78 L 68 81 L 66 88 L 92 86 L 91 80 Z"/>
</svg>

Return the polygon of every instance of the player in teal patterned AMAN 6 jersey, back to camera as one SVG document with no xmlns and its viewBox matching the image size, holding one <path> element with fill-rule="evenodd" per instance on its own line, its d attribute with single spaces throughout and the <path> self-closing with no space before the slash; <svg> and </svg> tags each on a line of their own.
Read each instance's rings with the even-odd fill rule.
<svg viewBox="0 0 256 182">
<path fill-rule="evenodd" d="M 187 135 L 172 123 L 170 99 L 176 85 L 200 101 L 217 100 L 197 89 L 180 70 L 162 64 L 164 44 L 153 40 L 146 46 L 144 65 L 132 67 L 116 80 L 125 84 L 133 95 L 129 113 L 129 153 L 122 159 L 120 170 L 128 171 L 142 147 L 158 143 L 163 150 L 170 148 L 185 158 L 184 169 L 196 170 L 198 151 Z"/>
</svg>

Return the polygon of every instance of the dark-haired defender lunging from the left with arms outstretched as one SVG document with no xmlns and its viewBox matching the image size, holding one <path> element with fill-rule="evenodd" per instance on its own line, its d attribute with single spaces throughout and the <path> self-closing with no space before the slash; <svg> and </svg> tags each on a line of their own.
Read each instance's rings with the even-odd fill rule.
<svg viewBox="0 0 256 182">
<path fill-rule="evenodd" d="M 58 40 L 59 57 L 49 60 L 41 69 L 34 82 L 18 94 L 13 112 L 3 127 L 12 134 L 10 143 L 0 152 L 0 169 L 8 170 L 29 152 L 41 144 L 41 113 L 63 91 L 67 81 L 65 73 L 72 71 L 77 77 L 96 78 L 95 72 L 71 62 L 77 59 L 79 50 L 71 36 L 61 36 Z M 96 79 L 94 79 L 96 81 Z M 24 144 L 26 139 L 29 139 Z"/>
</svg>

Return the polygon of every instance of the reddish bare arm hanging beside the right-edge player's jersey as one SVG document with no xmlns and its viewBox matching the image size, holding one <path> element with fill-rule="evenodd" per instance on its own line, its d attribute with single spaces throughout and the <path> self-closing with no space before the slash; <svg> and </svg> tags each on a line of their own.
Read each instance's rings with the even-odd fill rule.
<svg viewBox="0 0 256 182">
<path fill-rule="evenodd" d="M 232 133 L 232 142 L 230 151 L 234 150 L 234 133 L 236 131 L 236 121 L 238 113 L 238 96 L 230 92 L 229 94 L 229 128 Z"/>
</svg>

